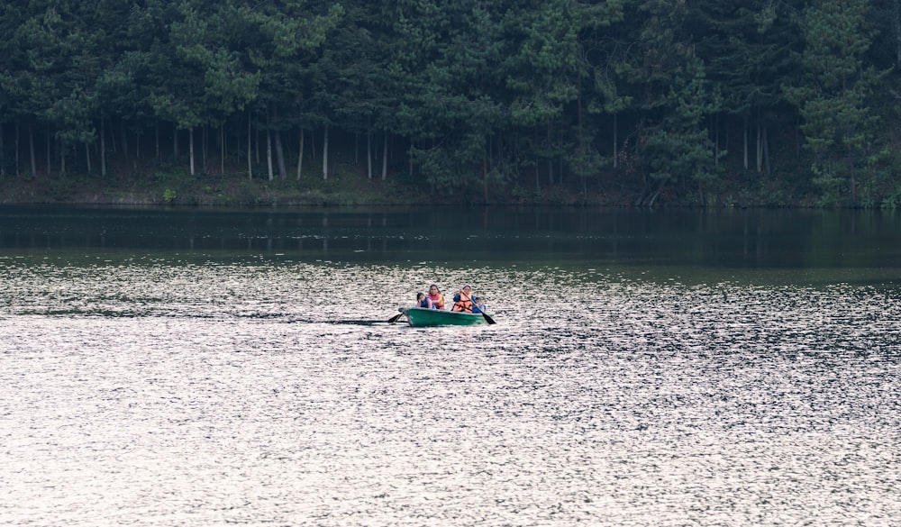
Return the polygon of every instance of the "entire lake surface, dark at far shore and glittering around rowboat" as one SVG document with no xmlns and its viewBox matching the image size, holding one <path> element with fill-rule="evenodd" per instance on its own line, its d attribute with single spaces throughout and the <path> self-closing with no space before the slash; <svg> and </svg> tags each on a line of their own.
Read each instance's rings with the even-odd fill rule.
<svg viewBox="0 0 901 527">
<path fill-rule="evenodd" d="M 0 286 L 0 524 L 901 518 L 898 215 L 7 207 Z"/>
</svg>

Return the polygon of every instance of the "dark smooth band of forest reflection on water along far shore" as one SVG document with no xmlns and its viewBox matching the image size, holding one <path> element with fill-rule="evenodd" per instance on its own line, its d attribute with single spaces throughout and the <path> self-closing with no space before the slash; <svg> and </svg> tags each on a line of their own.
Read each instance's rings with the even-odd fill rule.
<svg viewBox="0 0 901 527">
<path fill-rule="evenodd" d="M 354 261 L 594 261 L 726 268 L 897 268 L 901 216 L 623 209 L 0 208 L 0 249 L 272 253 Z"/>
</svg>

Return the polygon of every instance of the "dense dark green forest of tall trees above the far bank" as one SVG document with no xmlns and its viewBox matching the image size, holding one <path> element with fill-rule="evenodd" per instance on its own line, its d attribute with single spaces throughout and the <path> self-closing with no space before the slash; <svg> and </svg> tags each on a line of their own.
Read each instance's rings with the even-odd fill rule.
<svg viewBox="0 0 901 527">
<path fill-rule="evenodd" d="M 901 0 L 4 0 L 0 194 L 895 208 L 899 75 Z"/>
</svg>

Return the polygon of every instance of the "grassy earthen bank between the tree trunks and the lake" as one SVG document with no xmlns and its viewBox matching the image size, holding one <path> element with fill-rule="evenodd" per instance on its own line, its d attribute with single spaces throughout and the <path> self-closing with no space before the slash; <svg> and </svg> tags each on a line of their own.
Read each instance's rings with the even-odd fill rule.
<svg viewBox="0 0 901 527">
<path fill-rule="evenodd" d="M 250 179 L 240 174 L 132 175 L 98 177 L 92 174 L 41 176 L 37 178 L 0 177 L 0 205 L 85 205 L 85 206 L 200 206 L 273 208 L 281 206 L 559 206 L 624 207 L 640 209 L 871 209 L 895 210 L 891 204 L 824 204 L 815 195 L 781 183 L 761 186 L 757 191 L 743 188 L 739 182 L 708 189 L 705 203 L 692 195 L 665 195 L 651 206 L 636 204 L 641 189 L 601 192 L 589 190 L 583 195 L 568 184 L 527 190 L 509 184 L 432 189 L 422 182 L 402 178 L 361 178 L 356 174 L 338 174 L 328 180 L 307 177 L 300 181 Z M 610 185 L 611 187 L 613 185 Z"/>
</svg>

